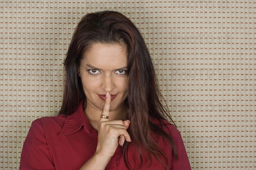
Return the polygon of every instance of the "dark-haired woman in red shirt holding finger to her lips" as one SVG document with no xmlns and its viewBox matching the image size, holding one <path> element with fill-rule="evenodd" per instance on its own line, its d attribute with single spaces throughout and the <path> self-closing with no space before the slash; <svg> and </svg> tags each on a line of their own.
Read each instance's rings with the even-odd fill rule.
<svg viewBox="0 0 256 170">
<path fill-rule="evenodd" d="M 64 66 L 59 115 L 32 122 L 20 169 L 191 169 L 180 132 L 165 119 L 143 37 L 127 17 L 81 18 Z"/>
</svg>

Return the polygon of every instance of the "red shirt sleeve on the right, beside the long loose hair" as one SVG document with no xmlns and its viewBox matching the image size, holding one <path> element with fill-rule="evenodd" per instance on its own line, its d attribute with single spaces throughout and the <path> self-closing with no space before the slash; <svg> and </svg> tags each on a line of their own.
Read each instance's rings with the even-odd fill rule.
<svg viewBox="0 0 256 170">
<path fill-rule="evenodd" d="M 183 143 L 182 137 L 180 135 L 179 130 L 175 127 L 175 130 L 173 130 L 173 140 L 175 142 L 177 153 L 178 153 L 178 160 L 176 159 L 172 160 L 171 169 L 172 170 L 191 170 L 189 158 L 186 153 L 186 148 Z"/>
</svg>

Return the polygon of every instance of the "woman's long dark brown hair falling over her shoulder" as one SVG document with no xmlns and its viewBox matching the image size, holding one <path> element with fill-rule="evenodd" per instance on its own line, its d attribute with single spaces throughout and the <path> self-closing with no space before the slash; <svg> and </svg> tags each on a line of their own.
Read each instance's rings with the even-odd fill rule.
<svg viewBox="0 0 256 170">
<path fill-rule="evenodd" d="M 59 114 L 70 115 L 76 111 L 81 101 L 86 102 L 81 79 L 77 75 L 77 68 L 84 52 L 93 43 L 124 44 L 126 46 L 128 97 L 125 104 L 128 107 L 127 117 L 131 120 L 128 133 L 140 152 L 140 166 L 143 158 L 145 159 L 141 151 L 141 146 L 143 146 L 147 153 L 146 158 L 150 160 L 150 163 L 152 163 L 151 154 L 153 154 L 163 167 L 167 168 L 167 156 L 152 139 L 151 132 L 166 139 L 172 146 L 173 155 L 178 159 L 172 136 L 162 129 L 162 126 L 166 125 L 162 121 L 165 116 L 172 119 L 169 116 L 168 107 L 164 107 L 160 102 L 163 96 L 158 88 L 154 65 L 145 41 L 136 26 L 123 14 L 116 11 L 101 11 L 86 14 L 81 18 L 64 60 L 64 96 Z M 152 123 L 151 118 L 158 119 L 161 126 Z M 172 124 L 175 125 L 173 121 Z M 123 157 L 126 166 L 131 168 L 126 160 L 128 145 L 128 142 L 123 145 Z M 166 164 L 159 158 L 159 155 L 164 157 Z"/>
</svg>

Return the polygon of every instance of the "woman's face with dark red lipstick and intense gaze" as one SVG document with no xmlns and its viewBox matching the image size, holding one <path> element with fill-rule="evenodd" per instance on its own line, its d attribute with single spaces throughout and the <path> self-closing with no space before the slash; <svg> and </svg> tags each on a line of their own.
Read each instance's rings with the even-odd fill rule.
<svg viewBox="0 0 256 170">
<path fill-rule="evenodd" d="M 123 45 L 96 43 L 84 54 L 79 67 L 87 107 L 102 110 L 111 94 L 111 110 L 123 107 L 127 97 L 127 54 Z"/>
</svg>

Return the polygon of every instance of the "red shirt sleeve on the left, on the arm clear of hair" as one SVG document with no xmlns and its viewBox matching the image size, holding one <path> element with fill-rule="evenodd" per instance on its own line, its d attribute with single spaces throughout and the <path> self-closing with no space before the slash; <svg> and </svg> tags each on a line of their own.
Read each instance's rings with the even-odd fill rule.
<svg viewBox="0 0 256 170">
<path fill-rule="evenodd" d="M 32 122 L 20 156 L 20 170 L 55 170 L 40 119 Z"/>
</svg>

